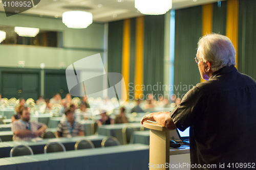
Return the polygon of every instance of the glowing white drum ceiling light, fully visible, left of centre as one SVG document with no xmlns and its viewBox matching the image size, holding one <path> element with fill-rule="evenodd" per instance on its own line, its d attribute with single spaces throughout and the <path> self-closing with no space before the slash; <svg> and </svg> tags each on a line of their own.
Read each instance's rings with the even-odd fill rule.
<svg viewBox="0 0 256 170">
<path fill-rule="evenodd" d="M 93 23 L 93 15 L 86 11 L 66 11 L 62 14 L 62 22 L 68 28 L 83 29 Z"/>
</svg>

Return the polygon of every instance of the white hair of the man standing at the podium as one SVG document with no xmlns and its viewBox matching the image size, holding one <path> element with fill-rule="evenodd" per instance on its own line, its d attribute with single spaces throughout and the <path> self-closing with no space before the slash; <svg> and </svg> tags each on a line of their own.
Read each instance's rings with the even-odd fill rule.
<svg viewBox="0 0 256 170">
<path fill-rule="evenodd" d="M 236 65 L 236 50 L 231 40 L 224 35 L 212 33 L 201 37 L 198 52 L 200 58 L 210 62 L 212 71 Z"/>
</svg>

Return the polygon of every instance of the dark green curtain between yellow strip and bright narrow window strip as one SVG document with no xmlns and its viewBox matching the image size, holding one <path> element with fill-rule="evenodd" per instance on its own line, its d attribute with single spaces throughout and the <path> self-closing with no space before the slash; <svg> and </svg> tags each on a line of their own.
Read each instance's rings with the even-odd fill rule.
<svg viewBox="0 0 256 170">
<path fill-rule="evenodd" d="M 144 95 L 163 93 L 163 47 L 164 15 L 147 15 L 144 17 L 144 55 L 143 84 Z M 154 86 L 155 85 L 155 86 Z M 153 89 L 153 86 L 155 87 Z"/>
</svg>

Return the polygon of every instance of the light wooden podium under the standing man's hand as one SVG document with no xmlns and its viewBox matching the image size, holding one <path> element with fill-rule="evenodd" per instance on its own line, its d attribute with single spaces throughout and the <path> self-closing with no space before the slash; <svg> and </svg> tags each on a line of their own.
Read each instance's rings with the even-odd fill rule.
<svg viewBox="0 0 256 170">
<path fill-rule="evenodd" d="M 155 165 L 155 168 L 150 167 L 150 169 L 169 170 L 164 165 L 169 164 L 170 130 L 157 123 L 143 122 L 143 126 L 150 129 L 150 163 Z"/>
</svg>

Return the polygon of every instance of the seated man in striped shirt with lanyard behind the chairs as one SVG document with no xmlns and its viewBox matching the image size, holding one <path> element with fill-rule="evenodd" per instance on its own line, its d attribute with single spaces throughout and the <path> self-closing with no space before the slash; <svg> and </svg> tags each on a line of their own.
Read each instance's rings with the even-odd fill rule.
<svg viewBox="0 0 256 170">
<path fill-rule="evenodd" d="M 60 122 L 57 127 L 58 137 L 84 136 L 83 126 L 76 122 L 74 113 L 71 110 L 65 112 L 66 121 Z"/>
</svg>

